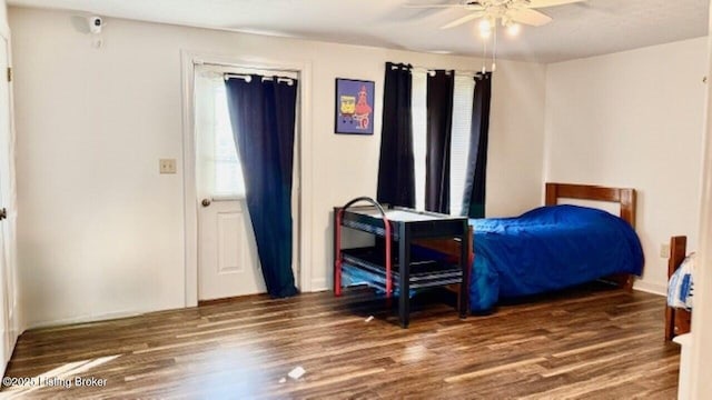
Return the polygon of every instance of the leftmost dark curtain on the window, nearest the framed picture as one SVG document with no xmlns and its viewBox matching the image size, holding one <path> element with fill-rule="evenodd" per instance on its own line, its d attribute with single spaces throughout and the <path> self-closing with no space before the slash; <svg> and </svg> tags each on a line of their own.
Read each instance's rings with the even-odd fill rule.
<svg viewBox="0 0 712 400">
<path fill-rule="evenodd" d="M 386 62 L 376 198 L 390 206 L 415 206 L 411 69 L 409 64 Z"/>
</svg>

